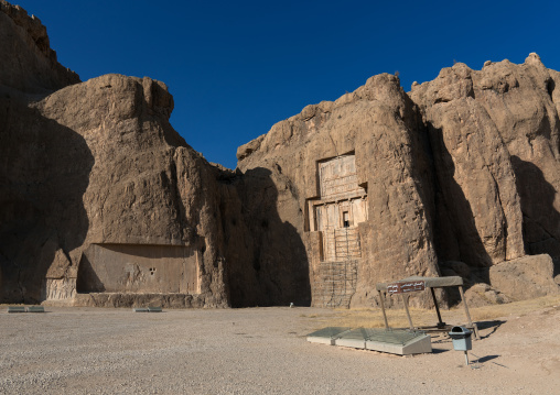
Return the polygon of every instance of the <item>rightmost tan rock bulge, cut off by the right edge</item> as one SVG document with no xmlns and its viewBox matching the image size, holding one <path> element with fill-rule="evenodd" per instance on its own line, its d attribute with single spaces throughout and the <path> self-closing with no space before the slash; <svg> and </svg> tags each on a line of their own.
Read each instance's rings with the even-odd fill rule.
<svg viewBox="0 0 560 395">
<path fill-rule="evenodd" d="M 560 256 L 557 75 L 531 54 L 523 65 L 504 61 L 485 68 L 476 94 L 511 155 L 527 252 L 554 259 Z"/>
</svg>

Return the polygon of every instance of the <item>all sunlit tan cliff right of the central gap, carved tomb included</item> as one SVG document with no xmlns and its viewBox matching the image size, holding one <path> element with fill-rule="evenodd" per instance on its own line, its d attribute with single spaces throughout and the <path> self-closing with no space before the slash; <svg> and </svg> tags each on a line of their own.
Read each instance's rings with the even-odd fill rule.
<svg viewBox="0 0 560 395">
<path fill-rule="evenodd" d="M 437 275 L 439 261 L 472 267 L 474 278 L 460 270 L 471 286 L 526 253 L 559 260 L 558 77 L 535 54 L 480 72 L 456 64 L 408 95 L 376 76 L 239 147 L 241 171 L 281 172 L 276 188 L 298 193 L 278 211 L 305 240 L 313 303 L 371 304 L 376 282 Z M 352 240 L 337 255 L 340 237 Z M 513 295 L 508 284 L 492 292 Z"/>
</svg>

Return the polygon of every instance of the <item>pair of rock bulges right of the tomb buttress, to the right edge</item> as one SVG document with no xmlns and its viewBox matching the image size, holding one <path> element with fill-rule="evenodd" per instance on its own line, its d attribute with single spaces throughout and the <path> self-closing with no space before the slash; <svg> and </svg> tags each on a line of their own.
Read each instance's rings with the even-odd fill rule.
<svg viewBox="0 0 560 395">
<path fill-rule="evenodd" d="M 558 72 L 523 65 L 443 69 L 410 97 L 424 114 L 439 179 L 439 255 L 474 266 L 560 256 Z"/>
</svg>

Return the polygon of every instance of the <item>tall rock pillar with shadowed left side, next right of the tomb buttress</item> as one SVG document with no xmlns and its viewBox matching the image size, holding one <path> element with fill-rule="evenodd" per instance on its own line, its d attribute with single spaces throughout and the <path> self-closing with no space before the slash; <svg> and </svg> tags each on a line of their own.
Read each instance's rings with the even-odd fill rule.
<svg viewBox="0 0 560 395">
<path fill-rule="evenodd" d="M 410 95 L 426 113 L 434 153 L 440 257 L 489 266 L 525 254 L 521 210 L 508 151 L 474 99 L 472 75 L 456 64 Z"/>
</svg>

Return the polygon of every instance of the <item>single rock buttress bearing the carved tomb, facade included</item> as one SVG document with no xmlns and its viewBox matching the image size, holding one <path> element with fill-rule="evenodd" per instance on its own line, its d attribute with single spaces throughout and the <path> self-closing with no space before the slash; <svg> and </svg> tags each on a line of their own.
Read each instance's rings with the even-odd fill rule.
<svg viewBox="0 0 560 395">
<path fill-rule="evenodd" d="M 398 78 L 380 75 L 238 150 L 246 174 L 273 175 L 278 215 L 305 243 L 314 304 L 370 304 L 376 282 L 438 274 L 426 139 Z"/>
</svg>

